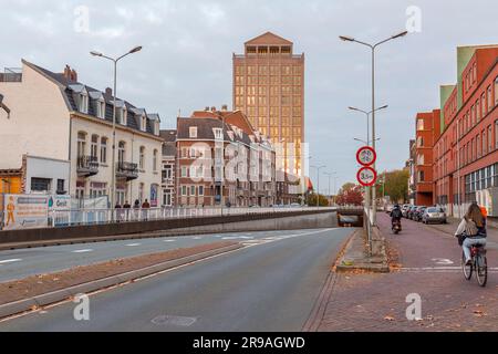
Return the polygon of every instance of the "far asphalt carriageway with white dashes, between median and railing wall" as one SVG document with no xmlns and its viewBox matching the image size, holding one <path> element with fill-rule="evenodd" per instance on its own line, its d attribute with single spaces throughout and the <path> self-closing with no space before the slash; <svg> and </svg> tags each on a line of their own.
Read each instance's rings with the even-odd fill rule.
<svg viewBox="0 0 498 354">
<path fill-rule="evenodd" d="M 53 246 L 0 251 L 0 282 L 87 266 L 111 259 L 186 248 L 222 240 L 252 240 L 297 231 L 212 233 Z"/>
</svg>

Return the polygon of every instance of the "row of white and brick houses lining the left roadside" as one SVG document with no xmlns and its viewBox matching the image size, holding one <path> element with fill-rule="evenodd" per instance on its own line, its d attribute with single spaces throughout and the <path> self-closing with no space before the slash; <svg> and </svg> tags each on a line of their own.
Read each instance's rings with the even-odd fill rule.
<svg viewBox="0 0 498 354">
<path fill-rule="evenodd" d="M 116 205 L 269 206 L 302 192 L 279 169 L 277 144 L 240 111 L 197 111 L 162 131 L 157 113 L 81 83 L 70 66 L 54 73 L 25 60 L 0 74 L 0 94 L 9 110 L 0 111 L 0 192 L 110 196 L 113 171 Z"/>
</svg>

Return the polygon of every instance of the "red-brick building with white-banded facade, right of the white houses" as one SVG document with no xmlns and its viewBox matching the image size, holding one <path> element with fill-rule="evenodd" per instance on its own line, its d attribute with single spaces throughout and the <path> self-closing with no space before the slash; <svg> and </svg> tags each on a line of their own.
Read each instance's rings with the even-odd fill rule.
<svg viewBox="0 0 498 354">
<path fill-rule="evenodd" d="M 276 195 L 271 142 L 240 111 L 196 111 L 177 118 L 177 205 L 270 206 Z"/>
</svg>

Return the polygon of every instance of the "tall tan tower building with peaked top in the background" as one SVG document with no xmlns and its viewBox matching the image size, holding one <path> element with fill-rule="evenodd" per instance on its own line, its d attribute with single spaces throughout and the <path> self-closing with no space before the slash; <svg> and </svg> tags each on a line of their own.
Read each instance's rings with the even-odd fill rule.
<svg viewBox="0 0 498 354">
<path fill-rule="evenodd" d="M 304 140 L 304 53 L 271 32 L 245 43 L 234 54 L 234 111 L 242 111 L 255 128 L 282 144 L 281 167 L 301 176 Z"/>
</svg>

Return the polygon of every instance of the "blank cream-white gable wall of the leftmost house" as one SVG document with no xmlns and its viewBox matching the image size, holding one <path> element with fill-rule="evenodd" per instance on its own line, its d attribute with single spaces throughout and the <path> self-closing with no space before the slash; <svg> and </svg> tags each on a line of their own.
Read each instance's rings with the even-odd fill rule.
<svg viewBox="0 0 498 354">
<path fill-rule="evenodd" d="M 59 86 L 23 64 L 22 82 L 0 82 L 10 119 L 0 118 L 0 169 L 20 168 L 22 155 L 68 159 L 69 114 Z"/>
</svg>

